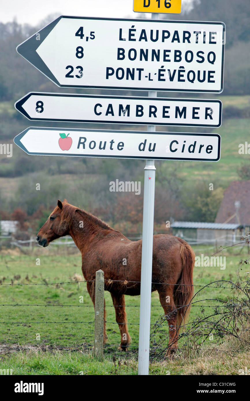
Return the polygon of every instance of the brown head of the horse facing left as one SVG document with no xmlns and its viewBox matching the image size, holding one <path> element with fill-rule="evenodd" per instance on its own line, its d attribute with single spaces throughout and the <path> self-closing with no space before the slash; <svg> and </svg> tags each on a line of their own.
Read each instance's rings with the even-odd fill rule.
<svg viewBox="0 0 250 401">
<path fill-rule="evenodd" d="M 63 207 L 68 204 L 67 200 L 58 201 L 57 207 L 53 210 L 43 227 L 37 234 L 37 242 L 43 247 L 47 247 L 51 241 L 67 235 L 69 225 L 63 218 Z"/>
</svg>

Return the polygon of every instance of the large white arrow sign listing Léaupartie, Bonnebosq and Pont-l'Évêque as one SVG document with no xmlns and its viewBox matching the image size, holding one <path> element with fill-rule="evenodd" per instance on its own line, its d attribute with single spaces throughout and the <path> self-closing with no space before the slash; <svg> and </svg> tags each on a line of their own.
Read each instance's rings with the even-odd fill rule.
<svg viewBox="0 0 250 401">
<path fill-rule="evenodd" d="M 60 87 L 222 92 L 223 22 L 61 16 L 17 47 Z"/>
</svg>

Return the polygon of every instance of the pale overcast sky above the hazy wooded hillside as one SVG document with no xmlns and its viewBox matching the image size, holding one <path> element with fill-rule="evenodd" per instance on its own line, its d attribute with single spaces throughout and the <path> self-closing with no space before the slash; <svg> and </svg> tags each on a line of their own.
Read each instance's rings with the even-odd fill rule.
<svg viewBox="0 0 250 401">
<path fill-rule="evenodd" d="M 182 0 L 182 9 L 192 0 Z M 0 22 L 16 18 L 19 24 L 36 25 L 50 14 L 95 16 L 110 18 L 136 18 L 133 0 L 0 0 Z M 147 14 L 150 18 L 151 14 Z M 176 14 L 172 14 L 175 19 Z M 55 17 L 56 18 L 56 17 Z"/>
</svg>

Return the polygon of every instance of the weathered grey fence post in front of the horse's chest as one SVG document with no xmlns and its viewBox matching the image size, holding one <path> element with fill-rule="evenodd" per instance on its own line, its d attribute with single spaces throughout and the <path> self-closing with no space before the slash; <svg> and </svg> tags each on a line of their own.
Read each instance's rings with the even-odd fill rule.
<svg viewBox="0 0 250 401">
<path fill-rule="evenodd" d="M 104 330 L 104 272 L 96 271 L 95 299 L 95 357 L 103 360 L 103 330 Z"/>
</svg>

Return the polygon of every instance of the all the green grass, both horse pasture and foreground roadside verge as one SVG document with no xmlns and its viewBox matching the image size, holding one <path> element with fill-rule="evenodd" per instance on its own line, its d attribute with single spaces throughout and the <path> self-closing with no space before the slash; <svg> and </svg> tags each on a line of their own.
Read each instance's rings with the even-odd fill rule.
<svg viewBox="0 0 250 401">
<path fill-rule="evenodd" d="M 214 249 L 202 247 L 202 245 L 194 247 L 194 249 L 196 256 L 201 253 L 210 256 L 214 253 Z M 221 279 L 236 282 L 239 260 L 248 257 L 246 247 L 240 255 L 235 254 L 238 251 L 229 249 L 219 254 L 226 256 L 226 269 L 224 270 L 221 270 L 220 267 L 195 267 L 194 284 L 203 286 Z M 38 258 L 40 265 L 36 264 Z M 246 265 L 246 269 L 240 271 L 240 278 L 244 279 L 245 277 L 246 279 L 248 271 L 249 265 Z M 120 332 L 115 323 L 111 296 L 109 292 L 105 292 L 106 320 L 109 322 L 107 323 L 108 343 L 105 346 L 105 363 L 101 364 L 93 359 L 91 350 L 94 335 L 94 313 L 86 284 L 46 284 L 71 282 L 74 273 L 79 274 L 80 272 L 80 254 L 60 255 L 55 248 L 51 247 L 35 249 L 32 255 L 22 255 L 19 251 L 1 252 L 0 279 L 2 283 L 44 284 L 0 286 L 1 369 L 11 365 L 14 367 L 14 374 L 79 374 L 80 371 L 83 371 L 83 374 L 136 374 L 140 297 L 126 296 L 128 305 L 126 312 L 128 323 L 130 323 L 128 330 L 132 337 L 132 343 L 129 351 L 121 354 L 117 351 Z M 195 287 L 195 292 L 197 290 L 199 287 Z M 83 296 L 83 303 L 79 302 L 81 296 Z M 232 297 L 230 288 L 206 288 L 198 294 L 195 300 L 206 298 L 226 300 L 227 297 Z M 2 306 L 6 304 L 41 306 Z M 218 304 L 217 301 L 211 300 L 198 302 L 191 308 L 189 320 L 207 313 L 210 305 Z M 65 305 L 65 307 L 59 305 Z M 163 314 L 157 292 L 152 293 L 152 305 L 154 306 L 151 308 L 151 324 L 154 324 Z M 205 307 L 202 308 L 201 305 Z M 8 324 L 2 322 L 8 322 Z M 14 322 L 20 323 L 15 324 Z M 167 331 L 167 326 L 162 326 L 152 341 L 159 342 L 161 338 L 165 338 Z M 152 341 L 151 346 L 153 347 Z M 231 355 L 228 350 L 230 344 L 226 344 L 225 341 L 220 341 L 220 344 L 215 341 L 212 344 L 217 349 L 220 358 L 214 358 L 213 354 L 209 357 L 209 352 L 205 356 L 201 354 L 198 358 L 196 356 L 193 359 L 183 360 L 181 358 L 181 348 L 185 346 L 183 338 L 179 341 L 179 358 L 175 358 L 173 362 L 152 363 L 150 373 L 169 374 L 166 372 L 171 370 L 170 374 L 238 374 L 238 369 L 244 369 L 245 366 L 250 365 L 250 353 L 246 349 L 242 349 Z M 167 342 L 165 342 L 165 346 L 167 346 Z M 208 346 L 211 348 L 211 342 Z M 233 346 L 230 347 L 233 349 Z M 46 348 L 47 353 L 41 351 Z M 119 359 L 121 362 L 118 363 Z"/>
</svg>

